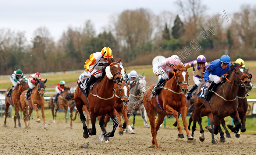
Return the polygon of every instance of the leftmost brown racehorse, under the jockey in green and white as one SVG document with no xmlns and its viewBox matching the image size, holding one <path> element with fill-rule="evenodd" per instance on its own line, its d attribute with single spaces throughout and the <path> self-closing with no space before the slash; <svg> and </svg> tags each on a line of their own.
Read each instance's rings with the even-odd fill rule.
<svg viewBox="0 0 256 155">
<path fill-rule="evenodd" d="M 11 87 L 9 87 L 7 91 L 9 91 Z M 12 105 L 15 109 L 15 115 L 14 115 L 14 127 L 16 128 L 16 119 L 18 118 L 18 125 L 19 128 L 21 128 L 20 125 L 20 115 L 19 115 L 19 110 L 20 108 L 20 94 L 22 93 L 22 91 L 28 89 L 28 84 L 26 81 L 22 80 L 20 81 L 20 84 L 18 84 L 16 86 L 16 88 L 12 91 L 12 94 L 10 97 L 7 97 L 7 93 L 5 92 L 5 124 L 4 126 L 6 126 L 6 118 L 8 116 L 8 111 L 9 111 L 9 107 L 10 105 Z"/>
</svg>

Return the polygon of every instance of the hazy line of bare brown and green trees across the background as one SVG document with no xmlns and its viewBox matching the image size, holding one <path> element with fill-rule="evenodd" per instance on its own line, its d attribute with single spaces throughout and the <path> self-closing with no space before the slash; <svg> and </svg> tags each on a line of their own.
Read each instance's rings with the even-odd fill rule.
<svg viewBox="0 0 256 155">
<path fill-rule="evenodd" d="M 84 62 L 90 54 L 105 46 L 113 50 L 114 58 L 121 57 L 124 66 L 151 64 L 156 55 L 170 57 L 178 55 L 177 52 L 187 46 L 191 47 L 191 41 L 202 30 L 211 35 L 200 38 L 200 49 L 193 49 L 186 62 L 200 54 L 208 61 L 218 59 L 222 54 L 229 54 L 232 60 L 239 57 L 255 60 L 255 7 L 244 5 L 232 16 L 226 12 L 227 21 L 219 16 L 224 15 L 223 12 L 206 16 L 206 6 L 200 0 L 178 0 L 176 3 L 181 10 L 179 15 L 174 12 L 155 15 L 142 8 L 125 10 L 113 17 L 98 35 L 92 22 L 87 20 L 81 28 L 69 27 L 56 42 L 46 27 L 34 31 L 29 45 L 25 32 L 0 29 L 0 74 L 11 74 L 19 68 L 24 73 L 84 69 Z M 207 29 L 212 23 L 211 17 L 220 17 L 223 21 L 218 22 L 214 35 Z"/>
</svg>

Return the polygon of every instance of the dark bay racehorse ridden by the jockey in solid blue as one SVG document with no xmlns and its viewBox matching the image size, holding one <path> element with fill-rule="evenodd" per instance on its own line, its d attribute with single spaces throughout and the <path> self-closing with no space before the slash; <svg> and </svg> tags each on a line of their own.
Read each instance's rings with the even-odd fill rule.
<svg viewBox="0 0 256 155">
<path fill-rule="evenodd" d="M 231 116 L 236 122 L 236 127 L 232 127 L 231 131 L 237 133 L 239 128 L 241 127 L 241 122 L 239 121 L 239 115 L 237 112 L 238 107 L 238 99 L 236 95 L 238 94 L 238 89 L 241 85 L 245 84 L 246 87 L 250 85 L 249 77 L 245 73 L 245 71 L 238 66 L 237 64 L 231 65 L 228 73 L 224 75 L 226 77 L 226 81 L 222 84 L 216 86 L 213 96 L 211 97 L 211 104 L 205 101 L 203 98 L 197 97 L 195 99 L 195 112 L 194 117 L 197 120 L 200 126 L 200 137 L 202 141 L 204 140 L 204 130 L 201 125 L 201 117 L 204 116 L 201 112 L 200 107 L 208 108 L 208 118 L 209 124 L 211 126 L 207 127 L 207 129 L 214 134 L 218 134 L 220 132 L 220 142 L 225 142 L 224 133 L 220 127 L 220 122 L 223 121 L 223 118 L 226 116 Z M 198 86 L 198 89 L 201 89 L 201 86 L 205 83 L 205 81 L 201 82 Z M 232 91 L 228 91 L 232 90 Z M 197 91 L 198 93 L 199 91 Z M 196 93 L 196 94 L 197 94 Z M 204 103 L 204 105 L 202 105 Z M 193 117 L 193 121 L 194 121 Z M 213 123 L 212 123 L 213 121 Z M 214 131 L 212 131 L 212 124 L 214 124 Z M 192 130 L 195 130 L 195 122 L 192 127 Z M 227 134 L 227 133 L 226 133 Z M 200 139 L 201 140 L 201 139 Z M 212 143 L 215 144 L 214 137 L 212 134 Z"/>
</svg>

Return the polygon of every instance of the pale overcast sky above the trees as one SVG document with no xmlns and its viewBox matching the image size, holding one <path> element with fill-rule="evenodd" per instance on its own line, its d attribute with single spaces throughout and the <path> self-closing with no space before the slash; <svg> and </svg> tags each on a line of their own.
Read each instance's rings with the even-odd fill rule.
<svg viewBox="0 0 256 155">
<path fill-rule="evenodd" d="M 108 25 L 110 16 L 118 15 L 126 9 L 150 9 L 156 15 L 163 11 L 177 12 L 176 0 L 0 0 L 0 29 L 25 31 L 27 40 L 33 38 L 33 32 L 40 26 L 46 26 L 54 40 L 58 40 L 69 26 L 80 27 L 85 20 L 91 20 L 97 30 L 102 32 Z M 207 5 L 206 14 L 227 15 L 240 11 L 240 6 L 256 4 L 255 0 L 202 0 Z"/>
</svg>

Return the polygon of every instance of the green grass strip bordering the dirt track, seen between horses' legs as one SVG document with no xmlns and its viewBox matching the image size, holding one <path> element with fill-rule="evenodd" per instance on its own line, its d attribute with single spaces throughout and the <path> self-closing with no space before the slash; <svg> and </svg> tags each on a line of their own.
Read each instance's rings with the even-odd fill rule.
<svg viewBox="0 0 256 155">
<path fill-rule="evenodd" d="M 14 113 L 15 113 L 14 108 L 12 108 L 12 116 L 14 115 Z M 21 114 L 21 112 L 20 112 L 20 114 Z M 32 120 L 37 120 L 37 113 L 36 113 L 35 110 L 33 110 L 32 115 L 33 115 L 33 119 Z M 47 123 L 52 123 L 52 112 L 51 112 L 51 110 L 50 109 L 46 109 L 45 112 L 44 112 L 44 115 L 45 115 L 45 120 L 47 121 Z M 74 115 L 74 112 L 73 112 L 73 115 Z M 23 114 L 22 114 L 22 117 L 23 117 Z M 42 120 L 41 109 L 39 110 L 39 117 Z M 64 112 L 57 112 L 56 121 L 57 122 L 62 122 L 62 121 L 64 122 L 65 121 L 64 117 L 65 117 Z M 156 116 L 156 119 L 157 119 L 157 116 Z M 23 121 L 23 119 L 21 119 L 21 121 Z M 69 118 L 69 121 L 70 121 L 70 118 Z M 132 124 L 132 121 L 133 121 L 133 116 L 130 116 L 130 118 L 129 118 L 130 124 Z M 176 121 L 176 119 L 174 117 L 171 117 L 171 118 L 167 118 L 166 117 L 166 127 L 165 128 L 167 128 L 167 129 L 177 129 L 177 127 L 172 126 L 172 123 L 174 123 L 175 121 Z M 179 117 L 179 121 L 180 121 L 180 125 L 182 126 L 182 129 L 183 129 L 181 117 Z M 187 116 L 187 122 L 188 121 L 189 121 L 189 116 Z M 231 117 L 229 117 L 229 116 L 226 117 L 225 121 L 226 121 L 226 125 L 231 124 Z M 255 122 L 256 122 L 256 118 L 247 118 L 246 119 L 246 130 L 247 131 L 245 133 L 254 133 L 254 134 L 256 133 Z M 74 121 L 74 123 L 81 123 L 80 118 L 76 117 L 76 120 Z M 149 120 L 148 120 L 148 123 L 149 123 Z M 96 124 L 98 125 L 98 122 L 96 122 Z M 191 124 L 191 127 L 192 127 L 192 125 L 193 125 L 193 122 Z M 208 125 L 207 117 L 203 117 L 202 118 L 202 126 L 205 127 L 207 125 Z M 90 124 L 90 126 L 91 126 L 91 124 Z M 140 126 L 140 127 L 144 126 L 143 119 L 142 119 L 142 117 L 140 115 L 137 115 L 136 118 L 135 118 L 135 126 Z M 197 130 L 199 130 L 198 123 L 197 123 L 196 126 L 197 126 Z M 190 129 L 191 129 L 191 127 L 190 127 Z M 204 128 L 204 130 L 206 131 L 205 128 Z"/>
</svg>

